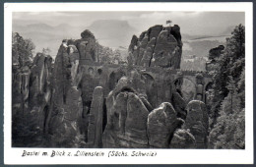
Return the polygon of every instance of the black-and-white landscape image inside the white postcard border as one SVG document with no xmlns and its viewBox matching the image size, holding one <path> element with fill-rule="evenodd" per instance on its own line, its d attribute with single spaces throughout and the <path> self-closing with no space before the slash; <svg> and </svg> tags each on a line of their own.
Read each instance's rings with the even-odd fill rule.
<svg viewBox="0 0 256 167">
<path fill-rule="evenodd" d="M 245 13 L 12 15 L 12 147 L 245 148 Z"/>
</svg>

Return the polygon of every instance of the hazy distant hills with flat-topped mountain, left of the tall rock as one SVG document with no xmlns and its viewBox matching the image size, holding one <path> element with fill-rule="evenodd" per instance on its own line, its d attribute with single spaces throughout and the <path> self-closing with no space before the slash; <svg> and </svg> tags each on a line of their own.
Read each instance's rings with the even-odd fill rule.
<svg viewBox="0 0 256 167">
<path fill-rule="evenodd" d="M 53 57 L 56 56 L 61 40 L 64 38 L 81 38 L 83 30 L 90 29 L 98 42 L 112 48 L 127 48 L 136 28 L 132 28 L 126 21 L 98 20 L 89 27 L 76 27 L 61 24 L 57 27 L 46 24 L 22 25 L 13 23 L 13 31 L 19 32 L 25 38 L 31 38 L 35 44 L 35 52 L 48 47 Z"/>
</svg>

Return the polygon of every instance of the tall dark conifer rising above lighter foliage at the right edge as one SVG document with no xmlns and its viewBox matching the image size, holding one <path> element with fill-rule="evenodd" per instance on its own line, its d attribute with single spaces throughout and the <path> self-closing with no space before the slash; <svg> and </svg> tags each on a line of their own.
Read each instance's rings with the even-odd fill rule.
<svg viewBox="0 0 256 167">
<path fill-rule="evenodd" d="M 213 119 L 213 126 L 217 123 L 217 118 L 220 116 L 220 109 L 224 97 L 228 94 L 227 82 L 228 77 L 237 87 L 240 81 L 240 76 L 245 67 L 245 28 L 238 25 L 231 32 L 231 37 L 226 39 L 226 47 L 224 53 L 220 55 L 217 61 L 217 71 L 214 75 L 214 98 L 210 116 Z M 243 98 L 243 89 L 238 90 L 241 94 L 239 98 Z M 242 100 L 244 103 L 244 100 Z M 243 104 L 241 104 L 243 105 Z"/>
</svg>

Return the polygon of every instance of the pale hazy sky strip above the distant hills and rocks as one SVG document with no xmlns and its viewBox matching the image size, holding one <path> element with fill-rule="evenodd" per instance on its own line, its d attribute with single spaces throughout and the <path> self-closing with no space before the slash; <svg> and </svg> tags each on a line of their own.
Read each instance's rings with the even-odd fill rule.
<svg viewBox="0 0 256 167">
<path fill-rule="evenodd" d="M 166 20 L 179 25 L 182 33 L 218 34 L 226 28 L 243 24 L 244 13 L 239 12 L 39 12 L 14 13 L 13 21 L 20 26 L 47 24 L 58 26 L 71 24 L 88 27 L 97 20 L 127 21 L 138 33 Z"/>
</svg>

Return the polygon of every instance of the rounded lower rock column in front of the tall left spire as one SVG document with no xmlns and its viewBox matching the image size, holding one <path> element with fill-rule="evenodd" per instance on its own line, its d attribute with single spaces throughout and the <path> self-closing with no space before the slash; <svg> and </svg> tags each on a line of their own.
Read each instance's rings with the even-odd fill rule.
<svg viewBox="0 0 256 167">
<path fill-rule="evenodd" d="M 66 103 L 55 104 L 51 113 L 48 133 L 53 139 L 52 146 L 75 146 L 76 137 L 80 135 L 81 92 L 76 87 L 70 87 L 66 98 Z"/>
</svg>

